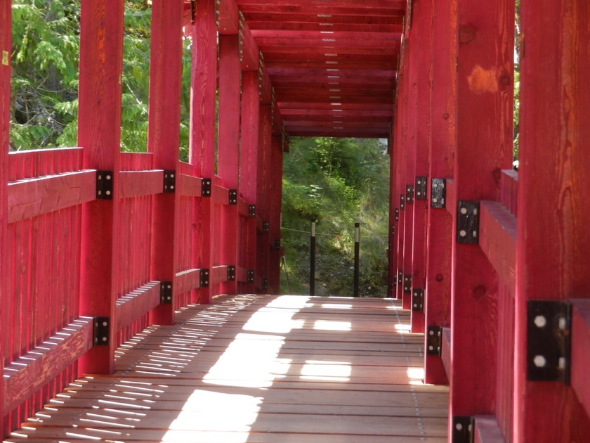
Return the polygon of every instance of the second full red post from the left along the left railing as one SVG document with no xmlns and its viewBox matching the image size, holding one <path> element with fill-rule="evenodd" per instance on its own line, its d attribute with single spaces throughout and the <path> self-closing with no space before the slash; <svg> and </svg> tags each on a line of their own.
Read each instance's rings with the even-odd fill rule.
<svg viewBox="0 0 590 443">
<path fill-rule="evenodd" d="M 182 25 L 182 0 L 152 2 L 147 150 L 154 153 L 156 169 L 175 176 L 181 122 Z M 152 210 L 152 279 L 170 282 L 172 288 L 176 276 L 178 200 L 173 192 L 157 194 Z M 172 303 L 160 304 L 152 312 L 152 323 L 171 324 L 173 316 Z"/>
</svg>

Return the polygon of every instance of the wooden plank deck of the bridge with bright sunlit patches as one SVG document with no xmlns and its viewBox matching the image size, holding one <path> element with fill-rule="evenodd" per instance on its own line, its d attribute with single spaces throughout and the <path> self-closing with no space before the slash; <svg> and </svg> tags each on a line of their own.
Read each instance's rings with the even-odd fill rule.
<svg viewBox="0 0 590 443">
<path fill-rule="evenodd" d="M 446 442 L 447 387 L 396 300 L 238 295 L 117 351 L 8 442 Z"/>
</svg>

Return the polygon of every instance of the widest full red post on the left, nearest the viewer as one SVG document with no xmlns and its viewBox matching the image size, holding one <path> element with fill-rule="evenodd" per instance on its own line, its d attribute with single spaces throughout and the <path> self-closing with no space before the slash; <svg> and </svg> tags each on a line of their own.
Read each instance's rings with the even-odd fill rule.
<svg viewBox="0 0 590 443">
<path fill-rule="evenodd" d="M 117 297 L 117 245 L 122 228 L 117 202 L 124 2 L 83 0 L 80 17 L 78 145 L 85 169 L 112 173 L 112 200 L 82 207 L 80 314 L 108 317 L 110 343 L 93 347 L 81 359 L 80 373 L 114 371 L 114 302 Z M 103 174 L 105 175 L 105 174 Z"/>
</svg>

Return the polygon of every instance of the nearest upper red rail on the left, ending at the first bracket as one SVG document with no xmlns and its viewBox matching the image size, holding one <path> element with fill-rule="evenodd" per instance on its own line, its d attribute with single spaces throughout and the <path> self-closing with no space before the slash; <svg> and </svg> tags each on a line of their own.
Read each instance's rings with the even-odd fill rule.
<svg viewBox="0 0 590 443">
<path fill-rule="evenodd" d="M 96 171 L 65 172 L 8 183 L 8 223 L 96 198 Z"/>
</svg>

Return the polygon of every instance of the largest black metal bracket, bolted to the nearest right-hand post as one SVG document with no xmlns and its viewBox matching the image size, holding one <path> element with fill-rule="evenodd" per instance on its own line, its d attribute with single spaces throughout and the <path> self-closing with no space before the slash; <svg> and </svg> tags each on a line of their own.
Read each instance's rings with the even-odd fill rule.
<svg viewBox="0 0 590 443">
<path fill-rule="evenodd" d="M 527 380 L 570 384 L 571 323 L 569 303 L 527 301 Z"/>
</svg>

